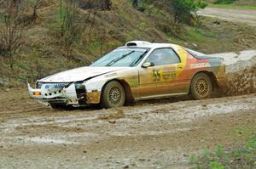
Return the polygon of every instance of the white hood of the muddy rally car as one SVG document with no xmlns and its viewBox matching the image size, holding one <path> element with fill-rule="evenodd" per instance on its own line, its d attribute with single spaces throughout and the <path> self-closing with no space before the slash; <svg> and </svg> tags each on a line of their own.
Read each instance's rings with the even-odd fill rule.
<svg viewBox="0 0 256 169">
<path fill-rule="evenodd" d="M 89 67 L 84 66 L 73 70 L 66 70 L 52 76 L 45 77 L 38 82 L 79 82 L 90 77 L 100 76 L 109 72 L 124 70 L 126 67 Z"/>
</svg>

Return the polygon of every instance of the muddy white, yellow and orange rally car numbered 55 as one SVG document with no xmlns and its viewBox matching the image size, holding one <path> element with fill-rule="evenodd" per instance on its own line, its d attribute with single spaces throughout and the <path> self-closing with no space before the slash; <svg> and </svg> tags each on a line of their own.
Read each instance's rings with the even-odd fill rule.
<svg viewBox="0 0 256 169">
<path fill-rule="evenodd" d="M 207 99 L 224 82 L 223 59 L 170 43 L 127 42 L 90 66 L 28 84 L 33 99 L 59 109 L 101 104 L 113 108 L 142 99 L 189 94 Z"/>
</svg>

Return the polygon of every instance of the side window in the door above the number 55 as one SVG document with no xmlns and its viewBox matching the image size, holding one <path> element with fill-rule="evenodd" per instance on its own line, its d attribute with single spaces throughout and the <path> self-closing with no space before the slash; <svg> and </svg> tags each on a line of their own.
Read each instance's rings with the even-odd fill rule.
<svg viewBox="0 0 256 169">
<path fill-rule="evenodd" d="M 154 65 L 169 65 L 180 63 L 180 59 L 172 48 L 159 48 L 148 56 L 146 62 L 152 62 Z"/>
</svg>

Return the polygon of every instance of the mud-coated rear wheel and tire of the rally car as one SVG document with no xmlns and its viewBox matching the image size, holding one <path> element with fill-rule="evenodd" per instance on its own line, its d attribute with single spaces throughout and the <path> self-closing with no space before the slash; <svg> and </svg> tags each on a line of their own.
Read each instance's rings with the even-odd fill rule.
<svg viewBox="0 0 256 169">
<path fill-rule="evenodd" d="M 193 99 L 207 99 L 212 94 L 212 80 L 205 73 L 196 74 L 190 84 L 190 94 Z"/>
</svg>

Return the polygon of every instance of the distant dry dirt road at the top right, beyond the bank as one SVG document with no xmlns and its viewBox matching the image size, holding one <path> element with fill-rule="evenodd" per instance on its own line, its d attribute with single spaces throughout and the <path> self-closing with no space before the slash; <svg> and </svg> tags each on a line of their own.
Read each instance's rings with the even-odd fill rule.
<svg viewBox="0 0 256 169">
<path fill-rule="evenodd" d="M 197 14 L 256 26 L 256 10 L 253 9 L 205 8 L 198 11 Z"/>
</svg>

